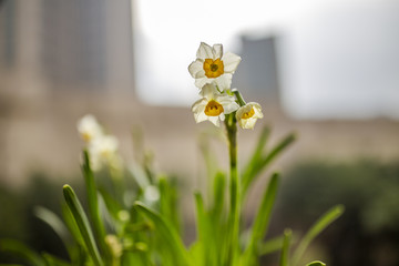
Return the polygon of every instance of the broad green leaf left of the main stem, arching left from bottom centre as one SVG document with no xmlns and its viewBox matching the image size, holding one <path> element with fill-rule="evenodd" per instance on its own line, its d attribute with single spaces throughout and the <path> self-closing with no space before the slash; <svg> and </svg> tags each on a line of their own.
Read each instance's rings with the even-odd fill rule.
<svg viewBox="0 0 399 266">
<path fill-rule="evenodd" d="M 160 237 L 161 245 L 167 247 L 168 257 L 173 259 L 173 265 L 187 266 L 192 265 L 188 253 L 180 238 L 177 232 L 167 223 L 160 214 L 145 207 L 142 203 L 135 203 L 134 208 L 152 223 L 154 223 L 155 232 Z"/>
</svg>

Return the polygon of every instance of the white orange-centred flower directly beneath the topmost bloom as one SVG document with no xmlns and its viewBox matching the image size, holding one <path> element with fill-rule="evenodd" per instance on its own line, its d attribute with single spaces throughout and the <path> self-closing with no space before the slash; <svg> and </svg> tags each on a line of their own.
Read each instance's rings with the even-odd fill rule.
<svg viewBox="0 0 399 266">
<path fill-rule="evenodd" d="M 221 94 L 215 84 L 206 84 L 202 89 L 201 95 L 203 98 L 192 106 L 197 123 L 208 120 L 219 126 L 219 121 L 224 121 L 225 114 L 229 114 L 239 108 L 234 96 L 226 93 Z"/>
</svg>

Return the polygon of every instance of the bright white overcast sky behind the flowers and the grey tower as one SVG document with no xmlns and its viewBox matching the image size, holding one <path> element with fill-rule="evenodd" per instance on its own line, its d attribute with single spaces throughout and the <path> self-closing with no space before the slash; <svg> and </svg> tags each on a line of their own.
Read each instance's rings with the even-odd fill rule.
<svg viewBox="0 0 399 266">
<path fill-rule="evenodd" d="M 239 34 L 277 33 L 290 115 L 399 117 L 396 0 L 134 0 L 132 12 L 137 93 L 149 104 L 197 99 L 187 66 L 202 41 L 239 53 Z"/>
</svg>

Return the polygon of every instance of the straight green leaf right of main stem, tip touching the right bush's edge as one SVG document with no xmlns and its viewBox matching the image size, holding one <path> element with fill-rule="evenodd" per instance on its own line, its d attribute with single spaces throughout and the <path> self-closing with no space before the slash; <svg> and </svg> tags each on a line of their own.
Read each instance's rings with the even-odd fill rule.
<svg viewBox="0 0 399 266">
<path fill-rule="evenodd" d="M 257 216 L 252 227 L 252 235 L 244 254 L 244 265 L 252 265 L 258 257 L 258 246 L 265 237 L 270 221 L 270 214 L 277 194 L 279 174 L 274 173 L 264 193 Z"/>
</svg>

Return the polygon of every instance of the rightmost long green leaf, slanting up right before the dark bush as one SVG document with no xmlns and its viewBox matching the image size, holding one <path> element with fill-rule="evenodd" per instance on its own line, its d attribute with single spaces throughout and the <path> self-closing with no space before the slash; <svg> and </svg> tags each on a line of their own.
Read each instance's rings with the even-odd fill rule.
<svg viewBox="0 0 399 266">
<path fill-rule="evenodd" d="M 336 221 L 344 213 L 344 206 L 337 205 L 326 212 L 316 223 L 310 227 L 304 238 L 299 242 L 293 255 L 293 266 L 299 263 L 299 259 L 304 255 L 306 248 L 309 246 L 313 239 L 319 235 L 328 225 Z"/>
</svg>

